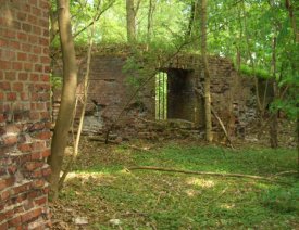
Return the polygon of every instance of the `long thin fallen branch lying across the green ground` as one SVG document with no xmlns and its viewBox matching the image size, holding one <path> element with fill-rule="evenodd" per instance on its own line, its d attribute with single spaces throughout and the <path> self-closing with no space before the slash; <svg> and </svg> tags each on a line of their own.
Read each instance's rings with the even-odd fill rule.
<svg viewBox="0 0 299 230">
<path fill-rule="evenodd" d="M 192 174 L 192 175 L 202 175 L 202 176 L 211 176 L 211 177 L 234 177 L 234 178 L 248 178 L 253 180 L 264 180 L 272 183 L 284 183 L 287 182 L 273 180 L 267 177 L 254 176 L 254 175 L 245 175 L 245 174 L 221 174 L 213 171 L 191 171 L 191 170 L 183 170 L 183 169 L 174 169 L 174 168 L 162 168 L 162 167 L 153 167 L 153 166 L 136 166 L 129 167 L 128 170 L 157 170 L 157 171 L 169 171 L 169 173 L 180 173 L 180 174 Z"/>
</svg>

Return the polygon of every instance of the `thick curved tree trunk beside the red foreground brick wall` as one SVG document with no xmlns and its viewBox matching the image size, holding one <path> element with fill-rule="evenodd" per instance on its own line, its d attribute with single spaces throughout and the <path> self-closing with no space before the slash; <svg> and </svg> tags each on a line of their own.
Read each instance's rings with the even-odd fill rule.
<svg viewBox="0 0 299 230">
<path fill-rule="evenodd" d="M 57 0 L 57 2 L 63 61 L 63 88 L 61 105 L 52 138 L 51 155 L 48 159 L 52 170 L 49 179 L 51 183 L 50 195 L 53 200 L 58 197 L 60 173 L 64 157 L 64 150 L 67 144 L 68 130 L 72 123 L 70 114 L 73 114 L 77 87 L 77 65 L 72 37 L 70 0 Z"/>
</svg>

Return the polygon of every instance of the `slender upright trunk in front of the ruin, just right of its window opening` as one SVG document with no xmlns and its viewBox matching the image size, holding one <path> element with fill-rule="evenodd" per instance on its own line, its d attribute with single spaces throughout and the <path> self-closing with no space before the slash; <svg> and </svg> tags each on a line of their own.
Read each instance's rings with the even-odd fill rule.
<svg viewBox="0 0 299 230">
<path fill-rule="evenodd" d="M 201 58 L 204 69 L 204 114 L 205 114 L 205 139 L 211 142 L 212 137 L 212 119 L 211 119 L 211 76 L 209 72 L 209 63 L 207 58 L 207 1 L 201 0 Z"/>
</svg>

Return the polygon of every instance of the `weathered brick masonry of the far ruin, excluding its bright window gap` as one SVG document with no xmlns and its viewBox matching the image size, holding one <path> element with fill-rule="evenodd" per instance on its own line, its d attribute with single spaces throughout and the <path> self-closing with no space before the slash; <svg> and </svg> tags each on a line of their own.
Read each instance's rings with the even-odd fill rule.
<svg viewBox="0 0 299 230">
<path fill-rule="evenodd" d="M 105 50 L 95 52 L 90 63 L 87 111 L 91 112 L 90 115 L 92 115 L 92 111 L 95 112 L 91 100 L 99 103 L 103 125 L 109 124 L 119 116 L 134 91 L 132 86 L 128 85 L 130 76 L 123 68 L 130 54 L 125 51 L 121 52 L 120 49 L 117 51 L 115 52 L 112 49 L 112 52 L 105 52 Z M 85 54 L 79 54 L 77 60 L 79 76 L 82 77 L 86 69 Z M 166 55 L 158 54 L 155 62 L 150 63 L 153 66 L 152 68 L 161 69 L 169 75 L 169 118 L 186 119 L 195 123 L 196 127 L 203 128 L 204 101 L 194 90 L 194 88 L 198 88 L 203 91 L 204 74 L 200 56 L 177 54 L 170 59 Z M 238 129 L 246 126 L 248 104 L 250 104 L 249 101 L 252 100 L 252 97 L 254 98 L 250 91 L 252 84 L 250 84 L 250 79 L 239 77 L 233 63 L 224 58 L 209 56 L 209 69 L 211 74 L 212 106 L 224 122 L 229 133 L 237 135 Z M 61 75 L 60 73 L 61 69 L 57 66 L 55 74 Z M 146 78 L 149 76 L 150 74 Z M 78 94 L 79 91 L 80 86 L 78 87 Z M 134 126 L 136 119 L 133 117 L 137 117 L 137 115 L 141 115 L 147 119 L 154 119 L 154 79 L 152 79 L 136 97 L 138 103 L 141 102 L 142 110 L 138 111 L 138 107 L 135 106 L 137 105 L 136 100 L 133 100 L 120 124 L 123 127 Z M 59 101 L 59 93 L 55 94 L 58 97 L 54 101 Z M 252 112 L 256 111 L 254 104 L 251 103 L 250 106 Z M 220 130 L 217 120 L 214 117 L 212 119 L 214 130 Z M 92 125 L 96 125 L 96 123 L 92 123 Z"/>
</svg>

